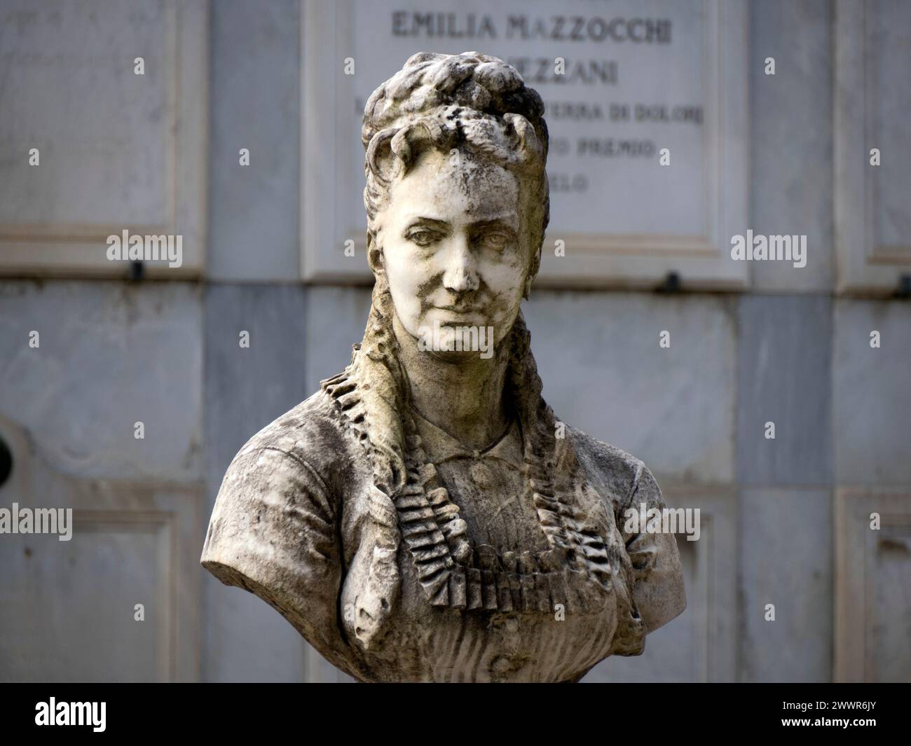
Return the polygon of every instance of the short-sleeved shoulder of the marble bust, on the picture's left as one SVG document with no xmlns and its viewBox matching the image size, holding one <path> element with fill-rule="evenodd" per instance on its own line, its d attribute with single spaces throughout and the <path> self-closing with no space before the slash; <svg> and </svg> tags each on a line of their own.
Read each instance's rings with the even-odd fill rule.
<svg viewBox="0 0 911 746">
<path fill-rule="evenodd" d="M 314 648 L 353 673 L 339 633 L 338 520 L 360 446 L 322 391 L 282 414 L 234 456 L 200 561 L 226 585 L 276 608 Z"/>
</svg>

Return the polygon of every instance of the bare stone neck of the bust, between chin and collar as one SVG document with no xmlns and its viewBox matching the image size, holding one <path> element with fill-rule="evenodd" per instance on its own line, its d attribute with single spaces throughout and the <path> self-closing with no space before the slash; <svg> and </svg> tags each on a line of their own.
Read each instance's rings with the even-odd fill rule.
<svg viewBox="0 0 911 746">
<path fill-rule="evenodd" d="M 503 434 L 507 342 L 484 359 L 477 353 L 434 353 L 418 348 L 393 314 L 393 329 L 415 409 L 470 448 L 482 449 Z"/>
</svg>

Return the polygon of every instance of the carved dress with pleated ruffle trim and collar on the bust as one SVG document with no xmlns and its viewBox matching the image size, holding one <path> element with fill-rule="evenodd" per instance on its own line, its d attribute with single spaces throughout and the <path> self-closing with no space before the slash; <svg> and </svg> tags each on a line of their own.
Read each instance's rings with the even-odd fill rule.
<svg viewBox="0 0 911 746">
<path fill-rule="evenodd" d="M 640 654 L 640 606 L 664 603 L 657 588 L 680 577 L 674 537 L 623 532 L 627 507 L 663 507 L 649 470 L 567 427 L 549 473 L 571 474 L 573 453 L 585 478 L 548 482 L 518 420 L 473 452 L 410 408 L 398 593 L 377 607 L 381 634 L 364 635 L 373 474 L 343 383 L 324 382 L 234 458 L 203 548 L 210 572 L 364 681 L 576 681 Z"/>
</svg>

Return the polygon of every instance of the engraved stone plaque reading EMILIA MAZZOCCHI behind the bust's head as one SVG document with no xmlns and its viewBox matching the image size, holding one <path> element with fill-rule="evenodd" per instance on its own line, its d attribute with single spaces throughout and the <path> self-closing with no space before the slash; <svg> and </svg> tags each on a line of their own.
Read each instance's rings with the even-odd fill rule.
<svg viewBox="0 0 911 746">
<path fill-rule="evenodd" d="M 433 49 L 498 56 L 544 100 L 551 221 L 539 285 L 648 286 L 670 271 L 702 286 L 745 282 L 729 254 L 746 219 L 742 4 L 458 8 L 305 3 L 306 279 L 368 280 L 363 158 L 344 144 L 357 137 L 376 75 Z M 317 36 L 326 27 L 335 33 Z"/>
</svg>

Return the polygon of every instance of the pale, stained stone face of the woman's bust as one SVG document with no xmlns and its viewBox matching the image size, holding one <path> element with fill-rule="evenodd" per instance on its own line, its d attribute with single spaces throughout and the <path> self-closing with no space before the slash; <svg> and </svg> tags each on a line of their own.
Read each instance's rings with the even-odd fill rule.
<svg viewBox="0 0 911 746">
<path fill-rule="evenodd" d="M 382 267 L 405 331 L 512 329 L 532 259 L 517 176 L 466 151 L 422 152 L 378 216 Z M 489 330 L 488 330 L 489 332 Z"/>
</svg>

